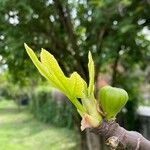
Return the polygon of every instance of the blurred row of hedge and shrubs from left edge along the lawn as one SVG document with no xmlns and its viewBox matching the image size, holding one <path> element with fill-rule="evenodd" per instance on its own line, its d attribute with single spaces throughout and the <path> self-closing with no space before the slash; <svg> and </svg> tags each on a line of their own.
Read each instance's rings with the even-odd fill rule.
<svg viewBox="0 0 150 150">
<path fill-rule="evenodd" d="M 38 120 L 57 127 L 73 128 L 74 108 L 65 99 L 60 101 L 54 99 L 53 91 L 54 89 L 45 83 L 34 86 L 32 89 L 28 86 L 20 87 L 9 81 L 7 74 L 0 75 L 0 100 L 14 100 L 19 110 L 21 110 L 22 101 L 27 100 L 26 106 Z"/>
</svg>

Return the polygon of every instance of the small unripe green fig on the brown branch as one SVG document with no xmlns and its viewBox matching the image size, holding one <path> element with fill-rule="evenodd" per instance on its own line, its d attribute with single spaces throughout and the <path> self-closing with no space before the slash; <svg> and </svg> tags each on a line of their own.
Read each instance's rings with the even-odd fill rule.
<svg viewBox="0 0 150 150">
<path fill-rule="evenodd" d="M 106 120 L 115 119 L 128 100 L 128 93 L 120 88 L 106 85 L 98 93 L 100 105 L 104 111 Z"/>
</svg>

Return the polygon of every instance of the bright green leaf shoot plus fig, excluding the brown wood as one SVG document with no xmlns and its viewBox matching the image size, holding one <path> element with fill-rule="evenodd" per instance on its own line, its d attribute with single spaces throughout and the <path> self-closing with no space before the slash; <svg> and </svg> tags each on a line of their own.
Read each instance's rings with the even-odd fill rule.
<svg viewBox="0 0 150 150">
<path fill-rule="evenodd" d="M 77 108 L 78 113 L 82 117 L 81 130 L 87 127 L 99 126 L 102 122 L 102 116 L 99 111 L 99 102 L 94 96 L 95 70 L 91 52 L 88 54 L 89 85 L 87 87 L 86 82 L 77 72 L 73 72 L 70 77 L 66 77 L 57 60 L 45 49 L 42 49 L 40 54 L 41 61 L 39 61 L 33 50 L 26 44 L 24 45 L 39 72 L 53 87 L 63 92 Z M 100 90 L 99 97 L 103 113 L 106 113 L 104 118 L 111 120 L 115 118 L 127 102 L 127 93 L 124 90 L 108 87 Z M 81 99 L 81 102 L 78 98 Z"/>
</svg>

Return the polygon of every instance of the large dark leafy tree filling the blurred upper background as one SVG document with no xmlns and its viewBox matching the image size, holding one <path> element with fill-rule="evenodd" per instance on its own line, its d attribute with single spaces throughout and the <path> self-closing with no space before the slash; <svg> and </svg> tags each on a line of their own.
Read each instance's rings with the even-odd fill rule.
<svg viewBox="0 0 150 150">
<path fill-rule="evenodd" d="M 37 72 L 24 50 L 50 51 L 66 74 L 77 70 L 88 81 L 87 53 L 93 53 L 96 75 L 107 72 L 113 86 L 124 87 L 130 101 L 128 128 L 135 128 L 135 108 L 141 78 L 150 61 L 148 0 L 0 1 L 0 55 L 13 80 L 36 80 Z M 132 72 L 132 73 L 131 73 Z M 96 77 L 97 78 L 97 77 Z M 136 81 L 135 81 L 136 80 Z M 137 89 L 137 90 L 135 90 Z M 130 115 L 129 115 L 130 113 Z"/>
</svg>

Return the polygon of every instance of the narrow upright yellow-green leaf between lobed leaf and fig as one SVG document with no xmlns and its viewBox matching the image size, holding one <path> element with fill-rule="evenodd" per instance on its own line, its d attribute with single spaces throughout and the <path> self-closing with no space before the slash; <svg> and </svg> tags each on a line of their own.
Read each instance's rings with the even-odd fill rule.
<svg viewBox="0 0 150 150">
<path fill-rule="evenodd" d="M 93 61 L 92 54 L 90 51 L 88 54 L 88 59 L 89 59 L 89 63 L 88 63 L 88 69 L 89 69 L 88 96 L 90 97 L 90 96 L 94 95 L 94 76 L 95 76 L 94 61 Z"/>
</svg>

